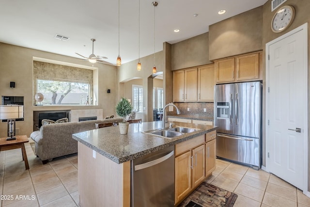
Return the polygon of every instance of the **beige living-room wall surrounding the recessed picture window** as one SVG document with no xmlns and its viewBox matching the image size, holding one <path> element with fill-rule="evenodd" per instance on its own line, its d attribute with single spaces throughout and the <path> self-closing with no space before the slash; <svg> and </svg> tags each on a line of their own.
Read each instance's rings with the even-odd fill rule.
<svg viewBox="0 0 310 207">
<path fill-rule="evenodd" d="M 16 122 L 19 134 L 30 136 L 33 129 L 33 111 L 103 109 L 103 117 L 115 111 L 116 67 L 98 63 L 94 64 L 98 67 L 97 71 L 94 71 L 94 76 L 97 75 L 99 78 L 99 81 L 94 81 L 94 86 L 97 85 L 98 106 L 33 106 L 33 57 L 92 66 L 77 58 L 0 43 L 0 96 L 24 96 L 25 118 L 24 121 Z M 9 87 L 10 81 L 16 82 L 16 88 Z M 110 94 L 107 94 L 108 88 L 111 89 Z M 7 136 L 7 124 L 0 122 L 0 137 L 5 136 Z"/>
</svg>

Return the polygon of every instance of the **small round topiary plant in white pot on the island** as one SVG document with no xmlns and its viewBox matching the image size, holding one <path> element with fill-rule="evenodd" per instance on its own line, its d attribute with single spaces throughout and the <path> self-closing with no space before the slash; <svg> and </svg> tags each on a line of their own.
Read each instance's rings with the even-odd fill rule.
<svg viewBox="0 0 310 207">
<path fill-rule="evenodd" d="M 122 99 L 116 105 L 117 115 L 123 117 L 123 122 L 119 123 L 121 134 L 127 134 L 129 123 L 126 122 L 125 118 L 131 113 L 132 109 L 133 108 L 130 102 L 124 97 L 122 97 Z"/>
</svg>

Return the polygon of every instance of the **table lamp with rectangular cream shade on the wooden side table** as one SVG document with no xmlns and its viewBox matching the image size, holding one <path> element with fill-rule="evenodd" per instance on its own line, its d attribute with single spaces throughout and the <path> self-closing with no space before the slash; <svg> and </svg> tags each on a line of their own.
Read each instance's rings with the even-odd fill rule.
<svg viewBox="0 0 310 207">
<path fill-rule="evenodd" d="M 15 119 L 24 117 L 24 106 L 19 105 L 1 105 L 0 119 L 8 120 L 8 138 L 9 140 L 16 140 L 15 137 Z"/>
</svg>

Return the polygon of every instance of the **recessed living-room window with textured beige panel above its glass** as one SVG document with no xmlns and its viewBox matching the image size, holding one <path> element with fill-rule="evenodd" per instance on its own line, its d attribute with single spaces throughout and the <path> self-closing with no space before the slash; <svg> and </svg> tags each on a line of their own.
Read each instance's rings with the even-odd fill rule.
<svg viewBox="0 0 310 207">
<path fill-rule="evenodd" d="M 66 64 L 66 63 L 63 63 Z M 68 65 L 33 61 L 33 105 L 97 105 L 93 90 L 93 70 Z"/>
</svg>

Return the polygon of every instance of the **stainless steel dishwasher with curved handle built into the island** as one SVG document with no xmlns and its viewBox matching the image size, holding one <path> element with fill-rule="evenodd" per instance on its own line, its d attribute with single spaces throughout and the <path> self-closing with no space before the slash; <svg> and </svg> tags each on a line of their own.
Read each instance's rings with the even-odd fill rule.
<svg viewBox="0 0 310 207">
<path fill-rule="evenodd" d="M 131 161 L 131 206 L 174 206 L 174 147 Z"/>
</svg>

